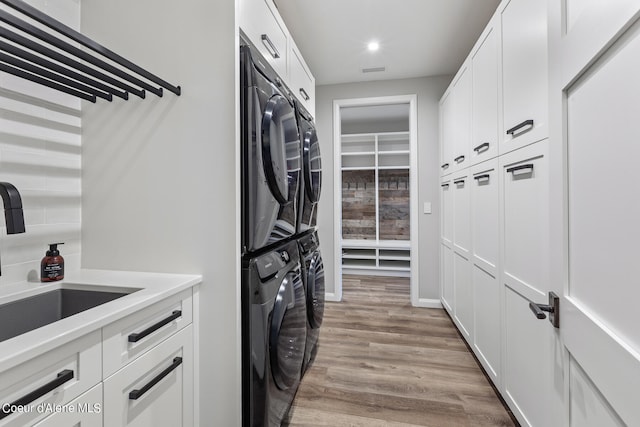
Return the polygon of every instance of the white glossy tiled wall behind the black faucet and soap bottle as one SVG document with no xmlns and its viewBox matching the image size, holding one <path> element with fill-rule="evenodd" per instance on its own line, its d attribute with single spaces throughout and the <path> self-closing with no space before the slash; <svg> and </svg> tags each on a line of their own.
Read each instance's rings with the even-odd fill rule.
<svg viewBox="0 0 640 427">
<path fill-rule="evenodd" d="M 72 28 L 80 26 L 78 0 L 27 3 Z M 77 98 L 0 73 L 0 181 L 20 192 L 26 229 L 7 235 L 2 211 L 0 286 L 39 281 L 48 243 L 65 242 L 59 249 L 67 272 L 80 267 L 80 143 Z"/>
</svg>

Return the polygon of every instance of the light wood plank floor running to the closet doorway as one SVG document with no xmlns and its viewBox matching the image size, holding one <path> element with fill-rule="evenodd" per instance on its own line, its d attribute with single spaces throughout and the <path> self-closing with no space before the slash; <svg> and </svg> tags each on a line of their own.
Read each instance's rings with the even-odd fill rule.
<svg viewBox="0 0 640 427">
<path fill-rule="evenodd" d="M 444 310 L 411 307 L 408 279 L 344 276 L 284 425 L 517 424 Z"/>
</svg>

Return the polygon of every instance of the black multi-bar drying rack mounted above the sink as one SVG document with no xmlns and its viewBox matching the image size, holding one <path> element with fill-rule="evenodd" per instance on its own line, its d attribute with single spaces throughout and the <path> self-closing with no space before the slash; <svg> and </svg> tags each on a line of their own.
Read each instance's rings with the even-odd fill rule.
<svg viewBox="0 0 640 427">
<path fill-rule="evenodd" d="M 8 6 L 0 8 L 1 71 L 91 102 L 111 101 L 113 96 L 126 100 L 129 93 L 145 98 L 147 91 L 161 97 L 163 89 L 181 94 L 180 86 L 22 0 L 0 4 Z"/>
</svg>

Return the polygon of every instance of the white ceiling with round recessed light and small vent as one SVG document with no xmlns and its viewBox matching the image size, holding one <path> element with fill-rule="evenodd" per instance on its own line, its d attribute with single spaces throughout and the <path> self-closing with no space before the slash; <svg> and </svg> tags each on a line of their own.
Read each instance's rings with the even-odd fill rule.
<svg viewBox="0 0 640 427">
<path fill-rule="evenodd" d="M 499 1 L 275 0 L 317 85 L 453 74 Z"/>
</svg>

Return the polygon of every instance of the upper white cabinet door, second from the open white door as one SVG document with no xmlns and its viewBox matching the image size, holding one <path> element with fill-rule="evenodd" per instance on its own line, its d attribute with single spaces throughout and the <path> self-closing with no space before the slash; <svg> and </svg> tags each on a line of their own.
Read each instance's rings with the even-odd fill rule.
<svg viewBox="0 0 640 427">
<path fill-rule="evenodd" d="M 471 164 L 498 155 L 498 64 L 500 34 L 497 19 L 482 35 L 478 50 L 472 54 L 472 132 Z"/>
</svg>

